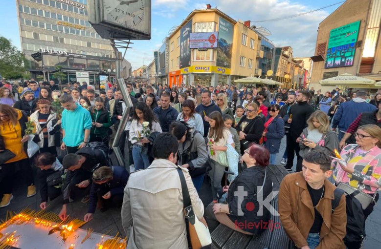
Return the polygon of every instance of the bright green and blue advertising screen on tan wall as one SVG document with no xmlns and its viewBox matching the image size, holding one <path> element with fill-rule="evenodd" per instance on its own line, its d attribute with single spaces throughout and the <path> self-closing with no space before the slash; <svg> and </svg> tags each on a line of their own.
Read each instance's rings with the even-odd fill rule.
<svg viewBox="0 0 381 249">
<path fill-rule="evenodd" d="M 331 30 L 325 68 L 352 66 L 359 37 L 360 21 Z"/>
</svg>

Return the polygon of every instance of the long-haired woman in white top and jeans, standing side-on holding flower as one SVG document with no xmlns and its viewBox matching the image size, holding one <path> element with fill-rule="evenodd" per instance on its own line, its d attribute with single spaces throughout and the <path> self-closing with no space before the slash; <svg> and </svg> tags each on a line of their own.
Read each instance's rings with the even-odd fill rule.
<svg viewBox="0 0 381 249">
<path fill-rule="evenodd" d="M 224 120 L 219 111 L 214 111 L 209 114 L 209 134 L 208 140 L 213 142 L 212 145 L 209 145 L 210 151 L 213 151 L 213 155 L 210 155 L 210 158 L 213 160 L 212 170 L 208 172 L 210 180 L 212 183 L 212 195 L 213 202 L 217 203 L 218 198 L 221 198 L 223 195 L 223 188 L 221 186 L 221 180 L 224 176 L 225 166 L 222 166 L 218 163 L 218 155 L 220 153 L 226 153 L 227 146 L 231 145 L 234 148 L 234 140 L 230 131 L 225 127 Z M 209 153 L 210 153 L 209 151 Z"/>
</svg>

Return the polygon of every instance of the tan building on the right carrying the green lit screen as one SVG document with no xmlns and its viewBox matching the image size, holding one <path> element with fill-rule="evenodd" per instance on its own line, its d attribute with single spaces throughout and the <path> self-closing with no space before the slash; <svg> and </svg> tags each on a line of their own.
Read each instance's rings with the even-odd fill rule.
<svg viewBox="0 0 381 249">
<path fill-rule="evenodd" d="M 380 21 L 380 0 L 346 0 L 320 22 L 310 86 L 343 73 L 380 81 Z"/>
</svg>

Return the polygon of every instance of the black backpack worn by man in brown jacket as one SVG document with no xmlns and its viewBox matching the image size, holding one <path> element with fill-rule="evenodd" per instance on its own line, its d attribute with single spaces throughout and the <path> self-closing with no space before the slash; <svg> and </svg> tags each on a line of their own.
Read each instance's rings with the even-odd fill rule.
<svg viewBox="0 0 381 249">
<path fill-rule="evenodd" d="M 344 190 L 337 188 L 334 191 L 335 199 L 332 200 L 332 212 L 338 206 Z M 365 217 L 359 200 L 349 194 L 345 195 L 347 210 L 347 234 L 344 237 L 348 249 L 360 248 L 365 239 Z"/>
</svg>

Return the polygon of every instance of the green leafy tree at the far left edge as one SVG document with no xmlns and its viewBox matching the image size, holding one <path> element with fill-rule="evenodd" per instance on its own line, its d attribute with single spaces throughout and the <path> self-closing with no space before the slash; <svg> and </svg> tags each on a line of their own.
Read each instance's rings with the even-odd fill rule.
<svg viewBox="0 0 381 249">
<path fill-rule="evenodd" d="M 0 74 L 6 79 L 19 79 L 25 73 L 24 59 L 11 41 L 0 36 Z"/>
</svg>

